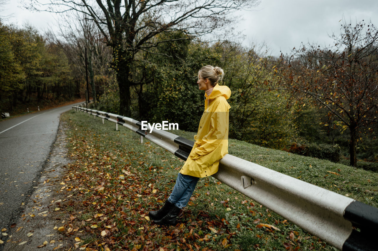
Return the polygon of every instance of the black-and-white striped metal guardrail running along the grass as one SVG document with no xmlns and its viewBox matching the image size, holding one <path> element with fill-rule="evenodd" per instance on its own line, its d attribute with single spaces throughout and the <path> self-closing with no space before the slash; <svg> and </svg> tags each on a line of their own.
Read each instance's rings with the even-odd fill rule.
<svg viewBox="0 0 378 251">
<path fill-rule="evenodd" d="M 112 113 L 73 106 L 77 111 L 129 128 L 186 160 L 194 142 L 163 130 L 141 130 L 141 122 Z M 225 155 L 212 175 L 229 187 L 290 220 L 340 250 L 378 250 L 378 208 L 269 168 Z"/>
</svg>

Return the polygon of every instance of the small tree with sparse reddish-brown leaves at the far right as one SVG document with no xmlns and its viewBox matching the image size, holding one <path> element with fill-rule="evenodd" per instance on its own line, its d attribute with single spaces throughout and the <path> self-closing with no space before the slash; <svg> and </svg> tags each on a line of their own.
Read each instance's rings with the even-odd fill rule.
<svg viewBox="0 0 378 251">
<path fill-rule="evenodd" d="M 378 29 L 344 21 L 341 35 L 332 37 L 333 48 L 294 50 L 282 67 L 288 66 L 282 84 L 316 100 L 342 131 L 349 129 L 350 165 L 356 166 L 356 144 L 378 122 Z"/>
</svg>

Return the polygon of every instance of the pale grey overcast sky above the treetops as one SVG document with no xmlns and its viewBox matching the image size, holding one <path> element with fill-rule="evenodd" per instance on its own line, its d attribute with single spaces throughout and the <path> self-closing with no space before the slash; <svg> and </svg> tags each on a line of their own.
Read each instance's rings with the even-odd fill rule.
<svg viewBox="0 0 378 251">
<path fill-rule="evenodd" d="M 42 33 L 49 28 L 57 30 L 53 14 L 27 11 L 20 2 L 9 0 L 3 6 L 0 16 L 12 15 L 3 23 L 19 27 L 29 23 Z M 364 19 L 377 26 L 378 0 L 261 0 L 253 11 L 240 11 L 237 16 L 245 19 L 236 28 L 245 34 L 240 40 L 244 46 L 265 42 L 271 54 L 278 56 L 280 51 L 290 52 L 301 42 L 332 44 L 328 35 L 339 34 L 343 17 L 348 22 L 352 19 L 352 24 Z"/>
</svg>

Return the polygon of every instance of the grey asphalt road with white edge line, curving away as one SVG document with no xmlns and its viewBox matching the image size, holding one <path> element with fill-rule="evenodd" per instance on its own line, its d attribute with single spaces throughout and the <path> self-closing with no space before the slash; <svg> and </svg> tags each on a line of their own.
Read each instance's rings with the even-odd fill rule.
<svg viewBox="0 0 378 251">
<path fill-rule="evenodd" d="M 36 189 L 43 165 L 50 161 L 59 116 L 73 105 L 0 122 L 0 229 L 9 229 L 19 219 L 23 202 Z"/>
</svg>

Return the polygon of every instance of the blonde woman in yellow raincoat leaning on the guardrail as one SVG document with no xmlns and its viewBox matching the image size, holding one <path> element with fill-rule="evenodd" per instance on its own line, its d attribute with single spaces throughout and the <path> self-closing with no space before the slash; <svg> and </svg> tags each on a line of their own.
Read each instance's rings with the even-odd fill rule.
<svg viewBox="0 0 378 251">
<path fill-rule="evenodd" d="M 205 91 L 205 109 L 194 135 L 194 145 L 185 164 L 178 173 L 176 184 L 163 207 L 150 211 L 155 223 L 176 225 L 180 210 L 189 202 L 200 178 L 218 171 L 220 159 L 228 153 L 228 110 L 231 90 L 220 86 L 224 72 L 210 65 L 198 71 L 198 89 Z"/>
</svg>

